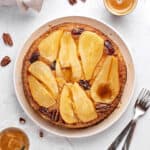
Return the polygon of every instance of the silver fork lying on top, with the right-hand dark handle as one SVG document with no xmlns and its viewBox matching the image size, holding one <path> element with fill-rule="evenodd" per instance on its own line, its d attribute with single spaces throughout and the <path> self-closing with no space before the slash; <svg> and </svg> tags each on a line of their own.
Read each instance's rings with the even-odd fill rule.
<svg viewBox="0 0 150 150">
<path fill-rule="evenodd" d="M 132 123 L 129 133 L 125 139 L 122 150 L 129 150 L 130 143 L 131 143 L 131 140 L 133 137 L 133 133 L 135 131 L 137 121 L 139 118 L 141 118 L 146 113 L 146 111 L 148 110 L 149 107 L 150 107 L 150 99 L 149 98 L 145 98 L 140 101 L 137 101 L 137 103 L 135 104 L 133 123 Z"/>
</svg>

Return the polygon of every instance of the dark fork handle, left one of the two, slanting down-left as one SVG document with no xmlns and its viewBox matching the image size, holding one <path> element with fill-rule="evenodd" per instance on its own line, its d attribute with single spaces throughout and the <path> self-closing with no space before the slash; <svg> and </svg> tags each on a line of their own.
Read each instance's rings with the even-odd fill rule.
<svg viewBox="0 0 150 150">
<path fill-rule="evenodd" d="M 126 127 L 122 130 L 122 132 L 115 138 L 114 142 L 108 147 L 107 150 L 116 150 L 121 141 L 124 139 L 126 133 L 129 131 L 131 125 L 133 124 L 133 120 L 131 120 Z"/>
</svg>

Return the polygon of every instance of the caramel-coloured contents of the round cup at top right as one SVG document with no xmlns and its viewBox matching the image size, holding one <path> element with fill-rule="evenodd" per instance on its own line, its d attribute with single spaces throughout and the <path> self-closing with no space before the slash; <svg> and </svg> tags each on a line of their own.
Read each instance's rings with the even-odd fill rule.
<svg viewBox="0 0 150 150">
<path fill-rule="evenodd" d="M 128 12 L 130 12 L 137 2 L 136 0 L 105 0 L 105 1 L 106 5 L 111 11 L 120 14 L 127 14 Z"/>
</svg>

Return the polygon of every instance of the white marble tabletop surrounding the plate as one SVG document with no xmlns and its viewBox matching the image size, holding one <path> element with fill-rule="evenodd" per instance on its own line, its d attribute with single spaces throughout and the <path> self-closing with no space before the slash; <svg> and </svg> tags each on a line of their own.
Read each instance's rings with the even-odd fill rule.
<svg viewBox="0 0 150 150">
<path fill-rule="evenodd" d="M 67 0 L 45 0 L 39 14 L 29 11 L 21 13 L 16 7 L 0 8 L 0 35 L 11 33 L 14 46 L 6 47 L 0 38 L 0 59 L 9 55 L 12 63 L 0 67 L 0 129 L 8 126 L 22 128 L 30 137 L 31 150 L 106 150 L 113 139 L 123 129 L 132 116 L 132 100 L 126 113 L 108 130 L 83 139 L 61 138 L 44 132 L 38 136 L 37 127 L 23 112 L 17 102 L 13 88 L 13 67 L 16 54 L 30 34 L 45 22 L 70 15 L 82 15 L 102 20 L 118 30 L 131 47 L 137 75 L 135 96 L 142 87 L 150 89 L 150 1 L 139 0 L 136 10 L 125 17 L 110 15 L 104 8 L 103 0 L 87 0 L 70 6 Z M 134 96 L 134 97 L 135 97 Z M 27 122 L 20 125 L 18 118 L 25 117 Z M 150 112 L 138 123 L 131 150 L 150 149 Z"/>
</svg>

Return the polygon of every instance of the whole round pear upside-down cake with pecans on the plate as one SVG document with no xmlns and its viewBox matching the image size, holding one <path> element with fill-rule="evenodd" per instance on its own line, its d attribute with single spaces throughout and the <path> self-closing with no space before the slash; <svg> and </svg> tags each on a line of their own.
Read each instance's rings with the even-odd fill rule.
<svg viewBox="0 0 150 150">
<path fill-rule="evenodd" d="M 22 67 L 25 96 L 46 121 L 84 128 L 120 103 L 127 69 L 119 47 L 84 24 L 50 26 L 33 42 Z"/>
</svg>

